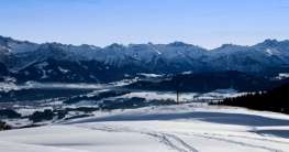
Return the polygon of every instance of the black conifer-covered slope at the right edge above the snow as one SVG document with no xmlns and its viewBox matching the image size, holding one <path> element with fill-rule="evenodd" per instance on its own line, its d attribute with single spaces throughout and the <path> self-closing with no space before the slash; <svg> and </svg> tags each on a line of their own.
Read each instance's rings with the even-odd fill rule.
<svg viewBox="0 0 289 152">
<path fill-rule="evenodd" d="M 268 91 L 226 98 L 213 105 L 236 106 L 255 110 L 289 113 L 289 84 Z"/>
</svg>

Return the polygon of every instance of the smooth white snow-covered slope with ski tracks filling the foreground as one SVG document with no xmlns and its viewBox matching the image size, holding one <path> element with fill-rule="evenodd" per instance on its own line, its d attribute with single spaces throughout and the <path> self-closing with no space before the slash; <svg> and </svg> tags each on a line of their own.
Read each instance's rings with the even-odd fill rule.
<svg viewBox="0 0 289 152">
<path fill-rule="evenodd" d="M 0 137 L 1 152 L 287 152 L 289 116 L 188 104 L 99 112 Z"/>
</svg>

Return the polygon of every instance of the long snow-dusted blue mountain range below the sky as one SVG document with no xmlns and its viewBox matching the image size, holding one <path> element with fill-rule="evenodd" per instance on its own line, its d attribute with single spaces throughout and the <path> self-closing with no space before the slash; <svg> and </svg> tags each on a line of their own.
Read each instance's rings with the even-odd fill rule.
<svg viewBox="0 0 289 152">
<path fill-rule="evenodd" d="M 285 73 L 289 70 L 289 41 L 266 40 L 253 46 L 224 44 L 205 50 L 182 42 L 98 47 L 36 44 L 0 36 L 0 75 L 20 82 L 111 82 L 138 73 Z"/>
</svg>

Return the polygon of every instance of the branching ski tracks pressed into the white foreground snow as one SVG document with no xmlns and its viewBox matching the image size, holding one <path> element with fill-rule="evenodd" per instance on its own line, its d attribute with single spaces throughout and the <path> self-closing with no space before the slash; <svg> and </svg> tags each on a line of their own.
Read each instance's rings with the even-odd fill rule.
<svg viewBox="0 0 289 152">
<path fill-rule="evenodd" d="M 84 127 L 88 128 L 88 127 Z M 149 137 L 156 138 L 160 143 L 166 144 L 167 146 L 178 151 L 178 152 L 199 152 L 196 148 L 190 145 L 189 143 L 185 142 L 180 137 L 176 134 L 181 134 L 181 135 L 188 135 L 188 137 L 197 137 L 197 138 L 203 138 L 207 140 L 216 140 L 220 142 L 226 142 L 230 144 L 237 144 L 241 146 L 247 146 L 247 148 L 253 148 L 253 149 L 262 149 L 265 151 L 269 152 L 284 152 L 282 150 L 278 149 L 273 149 L 264 145 L 257 145 L 257 144 L 252 144 L 243 141 L 237 141 L 237 140 L 230 140 L 227 137 L 235 137 L 235 138 L 244 138 L 244 139 L 252 139 L 252 140 L 259 140 L 259 141 L 270 141 L 270 142 L 279 142 L 275 140 L 268 140 L 268 139 L 258 139 L 258 138 L 251 138 L 246 135 L 224 135 L 224 134 L 216 134 L 216 133 L 180 133 L 180 132 L 174 132 L 174 133 L 166 133 L 166 132 L 160 132 L 160 131 L 137 131 L 135 129 L 131 129 L 127 127 L 114 127 L 114 126 L 98 126 L 98 127 L 92 127 L 88 129 L 93 129 L 93 130 L 100 130 L 100 131 L 108 131 L 108 132 L 134 132 L 134 133 L 142 133 L 142 134 L 147 134 Z M 223 137 L 223 138 L 221 138 Z M 279 142 L 284 144 L 289 144 L 288 142 Z"/>
</svg>

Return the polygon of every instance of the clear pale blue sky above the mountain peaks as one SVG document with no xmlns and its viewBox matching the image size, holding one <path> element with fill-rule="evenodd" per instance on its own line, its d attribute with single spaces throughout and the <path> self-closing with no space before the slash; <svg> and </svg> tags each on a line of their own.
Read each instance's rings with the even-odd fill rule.
<svg viewBox="0 0 289 152">
<path fill-rule="evenodd" d="M 0 0 L 0 35 L 69 44 L 203 47 L 289 39 L 288 0 Z"/>
</svg>

